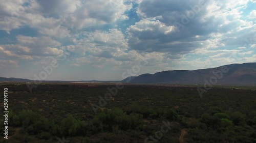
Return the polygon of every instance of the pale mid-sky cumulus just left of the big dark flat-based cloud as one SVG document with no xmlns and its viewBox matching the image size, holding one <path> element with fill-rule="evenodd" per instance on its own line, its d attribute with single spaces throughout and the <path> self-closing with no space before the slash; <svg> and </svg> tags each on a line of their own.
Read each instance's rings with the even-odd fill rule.
<svg viewBox="0 0 256 143">
<path fill-rule="evenodd" d="M 80 55 L 86 52 L 98 57 L 112 58 L 118 50 L 127 50 L 127 40 L 116 28 L 109 31 L 82 32 L 73 38 L 74 45 L 61 47 Z"/>
</svg>

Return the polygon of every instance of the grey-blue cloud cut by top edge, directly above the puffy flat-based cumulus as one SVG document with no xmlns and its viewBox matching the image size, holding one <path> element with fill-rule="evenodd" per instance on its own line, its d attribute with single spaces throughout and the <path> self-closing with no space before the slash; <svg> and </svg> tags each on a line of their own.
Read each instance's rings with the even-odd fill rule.
<svg viewBox="0 0 256 143">
<path fill-rule="evenodd" d="M 183 16 L 195 16 L 192 20 L 197 17 L 202 17 L 206 13 L 207 1 L 186 1 L 186 0 L 174 0 L 174 1 L 142 1 L 139 5 L 139 11 L 146 17 L 157 17 L 161 22 L 167 25 L 173 25 L 175 21 L 181 23 Z"/>
</svg>

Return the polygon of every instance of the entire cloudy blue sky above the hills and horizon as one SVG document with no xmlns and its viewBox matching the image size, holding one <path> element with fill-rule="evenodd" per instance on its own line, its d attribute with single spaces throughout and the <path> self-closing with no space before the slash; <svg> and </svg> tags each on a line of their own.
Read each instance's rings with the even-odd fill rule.
<svg viewBox="0 0 256 143">
<path fill-rule="evenodd" d="M 0 77 L 122 80 L 256 62 L 255 0 L 0 2 Z"/>
</svg>

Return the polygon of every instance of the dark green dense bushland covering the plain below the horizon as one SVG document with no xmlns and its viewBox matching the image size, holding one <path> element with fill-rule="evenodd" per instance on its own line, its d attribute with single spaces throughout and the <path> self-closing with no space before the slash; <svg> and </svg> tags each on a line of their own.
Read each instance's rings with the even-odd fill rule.
<svg viewBox="0 0 256 143">
<path fill-rule="evenodd" d="M 124 85 L 100 106 L 114 86 L 49 83 L 30 93 L 26 84 L 2 84 L 10 112 L 0 142 L 256 142 L 253 88 L 215 87 L 200 98 L 196 87 Z M 157 135 L 163 122 L 172 128 Z"/>
</svg>

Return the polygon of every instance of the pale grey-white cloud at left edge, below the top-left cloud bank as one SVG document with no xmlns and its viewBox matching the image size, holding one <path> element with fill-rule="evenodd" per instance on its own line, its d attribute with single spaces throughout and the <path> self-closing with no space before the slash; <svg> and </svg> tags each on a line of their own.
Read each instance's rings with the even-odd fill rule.
<svg viewBox="0 0 256 143">
<path fill-rule="evenodd" d="M 18 44 L 0 45 L 0 59 L 35 60 L 46 56 L 62 56 L 61 44 L 49 37 L 17 36 Z M 22 62 L 18 61 L 18 62 Z"/>
</svg>

